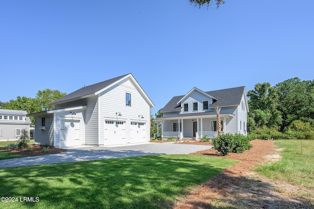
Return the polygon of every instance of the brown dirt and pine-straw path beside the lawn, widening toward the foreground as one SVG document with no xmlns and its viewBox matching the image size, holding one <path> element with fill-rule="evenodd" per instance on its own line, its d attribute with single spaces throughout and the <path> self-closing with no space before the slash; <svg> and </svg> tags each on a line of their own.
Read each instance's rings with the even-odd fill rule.
<svg viewBox="0 0 314 209">
<path fill-rule="evenodd" d="M 192 153 L 240 162 L 178 200 L 174 209 L 314 208 L 314 190 L 269 180 L 251 171 L 257 165 L 281 158 L 281 150 L 276 149 L 271 140 L 253 140 L 251 144 L 252 149 L 239 154 L 230 153 L 226 157 L 217 156 L 214 149 Z"/>
</svg>

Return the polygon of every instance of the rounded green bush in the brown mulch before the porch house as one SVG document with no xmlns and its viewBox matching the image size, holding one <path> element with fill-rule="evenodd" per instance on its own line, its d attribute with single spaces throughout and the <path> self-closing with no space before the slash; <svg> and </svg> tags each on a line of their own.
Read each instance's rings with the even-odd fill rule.
<svg viewBox="0 0 314 209">
<path fill-rule="evenodd" d="M 211 144 L 217 154 L 222 156 L 226 156 L 230 152 L 242 153 L 245 150 L 252 148 L 250 139 L 241 134 L 220 134 L 211 140 Z"/>
</svg>

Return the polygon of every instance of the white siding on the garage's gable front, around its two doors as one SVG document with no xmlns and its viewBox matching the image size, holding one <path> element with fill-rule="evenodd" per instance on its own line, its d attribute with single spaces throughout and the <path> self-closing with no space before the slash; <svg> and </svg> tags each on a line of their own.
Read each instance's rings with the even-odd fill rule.
<svg viewBox="0 0 314 209">
<path fill-rule="evenodd" d="M 131 93 L 131 106 L 126 105 L 126 93 Z M 105 139 L 105 118 L 126 120 L 127 143 L 130 143 L 131 121 L 146 123 L 146 139 L 150 139 L 150 106 L 128 78 L 99 95 L 100 106 L 100 145 Z M 117 116 L 116 113 L 122 116 Z M 144 118 L 140 118 L 143 115 Z"/>
</svg>

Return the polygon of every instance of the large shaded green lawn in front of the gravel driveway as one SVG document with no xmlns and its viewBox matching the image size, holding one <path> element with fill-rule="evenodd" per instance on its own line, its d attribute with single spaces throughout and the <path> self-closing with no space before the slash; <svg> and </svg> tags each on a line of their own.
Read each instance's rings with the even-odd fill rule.
<svg viewBox="0 0 314 209">
<path fill-rule="evenodd" d="M 1 168 L 2 208 L 171 208 L 181 195 L 235 160 L 162 155 Z"/>
</svg>

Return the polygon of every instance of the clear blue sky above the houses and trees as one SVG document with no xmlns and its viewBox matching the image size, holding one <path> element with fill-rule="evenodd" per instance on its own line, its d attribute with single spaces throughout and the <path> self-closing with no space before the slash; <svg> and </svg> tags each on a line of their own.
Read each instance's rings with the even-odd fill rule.
<svg viewBox="0 0 314 209">
<path fill-rule="evenodd" d="M 0 0 L 0 101 L 131 72 L 155 104 L 314 79 L 314 1 Z"/>
</svg>

